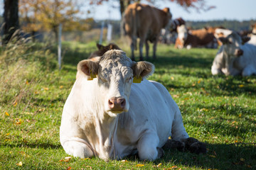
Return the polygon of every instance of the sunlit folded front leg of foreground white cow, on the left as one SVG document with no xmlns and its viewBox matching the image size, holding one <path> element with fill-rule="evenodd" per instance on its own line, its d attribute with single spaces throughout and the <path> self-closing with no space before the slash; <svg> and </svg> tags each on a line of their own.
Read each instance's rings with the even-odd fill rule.
<svg viewBox="0 0 256 170">
<path fill-rule="evenodd" d="M 68 140 L 62 142 L 63 148 L 67 154 L 73 155 L 74 157 L 86 158 L 93 157 L 94 154 L 90 146 L 86 144 L 86 142 L 82 142 L 83 140 Z"/>
</svg>

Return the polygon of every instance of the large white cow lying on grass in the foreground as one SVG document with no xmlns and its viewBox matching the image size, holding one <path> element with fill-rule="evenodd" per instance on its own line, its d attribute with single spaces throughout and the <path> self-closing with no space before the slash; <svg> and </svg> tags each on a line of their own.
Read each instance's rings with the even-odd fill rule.
<svg viewBox="0 0 256 170">
<path fill-rule="evenodd" d="M 65 152 L 105 160 L 138 153 L 154 160 L 169 136 L 191 152 L 206 152 L 205 144 L 188 137 L 169 91 L 145 79 L 153 72 L 153 64 L 132 62 L 121 50 L 79 62 L 60 125 Z"/>
</svg>

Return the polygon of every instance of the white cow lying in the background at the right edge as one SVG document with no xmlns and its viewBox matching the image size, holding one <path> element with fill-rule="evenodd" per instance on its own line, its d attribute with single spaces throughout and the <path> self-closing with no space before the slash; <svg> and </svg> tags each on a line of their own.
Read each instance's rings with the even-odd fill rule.
<svg viewBox="0 0 256 170">
<path fill-rule="evenodd" d="M 223 45 L 218 50 L 211 72 L 215 74 L 250 76 L 256 74 L 256 46 L 242 45 L 240 35 L 231 32 L 227 37 L 219 38 Z"/>
</svg>

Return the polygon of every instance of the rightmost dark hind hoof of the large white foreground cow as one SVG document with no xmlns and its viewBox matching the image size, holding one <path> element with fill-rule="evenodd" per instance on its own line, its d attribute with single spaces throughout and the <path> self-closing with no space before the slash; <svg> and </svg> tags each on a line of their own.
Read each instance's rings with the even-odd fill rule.
<svg viewBox="0 0 256 170">
<path fill-rule="evenodd" d="M 206 153 L 206 144 L 203 142 L 199 142 L 193 137 L 188 137 L 188 139 L 185 142 L 186 149 L 189 150 L 191 153 L 196 154 L 205 154 Z"/>
</svg>

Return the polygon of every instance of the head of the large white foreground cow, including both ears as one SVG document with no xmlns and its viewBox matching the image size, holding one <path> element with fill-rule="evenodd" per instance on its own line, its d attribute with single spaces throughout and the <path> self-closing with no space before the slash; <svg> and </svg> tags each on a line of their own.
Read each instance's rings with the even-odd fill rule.
<svg viewBox="0 0 256 170">
<path fill-rule="evenodd" d="M 109 50 L 97 60 L 78 63 L 81 79 L 92 80 L 95 95 L 105 113 L 116 116 L 129 110 L 129 95 L 133 79 L 144 79 L 154 72 L 149 62 L 132 62 L 122 50 Z M 95 79 L 94 79 L 95 78 Z"/>
</svg>

